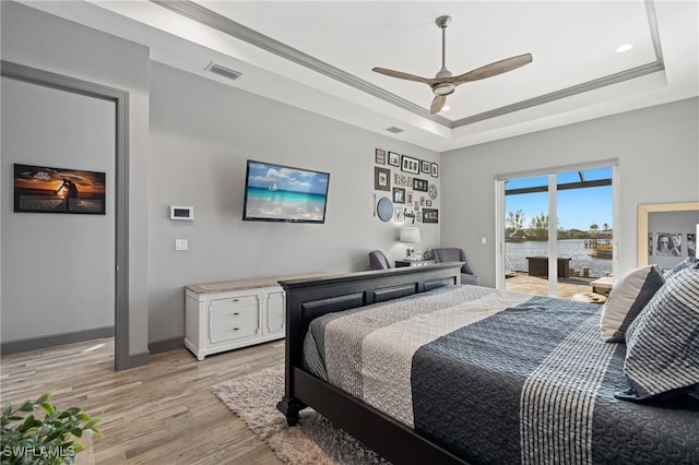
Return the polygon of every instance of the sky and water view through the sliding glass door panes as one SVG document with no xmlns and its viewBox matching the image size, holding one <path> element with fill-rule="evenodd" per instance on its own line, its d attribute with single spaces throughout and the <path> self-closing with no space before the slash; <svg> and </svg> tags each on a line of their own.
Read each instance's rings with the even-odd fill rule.
<svg viewBox="0 0 699 465">
<path fill-rule="evenodd" d="M 612 275 L 612 168 L 559 174 L 556 182 L 558 281 L 588 287 L 583 293 Z M 545 281 L 548 177 L 508 180 L 505 207 L 507 287 L 519 276 Z"/>
</svg>

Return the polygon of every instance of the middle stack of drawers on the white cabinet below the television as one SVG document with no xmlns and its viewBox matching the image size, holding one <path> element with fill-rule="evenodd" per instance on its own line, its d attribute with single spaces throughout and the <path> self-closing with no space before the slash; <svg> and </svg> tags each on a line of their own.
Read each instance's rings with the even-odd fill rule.
<svg viewBox="0 0 699 465">
<path fill-rule="evenodd" d="M 209 308 L 211 344 L 256 336 L 260 331 L 260 301 L 257 295 L 212 300 Z"/>
</svg>

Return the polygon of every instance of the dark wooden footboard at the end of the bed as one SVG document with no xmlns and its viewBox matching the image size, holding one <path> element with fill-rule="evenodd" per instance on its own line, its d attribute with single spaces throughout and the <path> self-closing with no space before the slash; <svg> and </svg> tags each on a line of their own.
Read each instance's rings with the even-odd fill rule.
<svg viewBox="0 0 699 465">
<path fill-rule="evenodd" d="M 286 291 L 286 396 L 293 394 L 294 367 L 301 367 L 304 338 L 311 320 L 461 282 L 463 262 L 280 281 Z M 292 385 L 289 385 L 292 384 Z"/>
</svg>

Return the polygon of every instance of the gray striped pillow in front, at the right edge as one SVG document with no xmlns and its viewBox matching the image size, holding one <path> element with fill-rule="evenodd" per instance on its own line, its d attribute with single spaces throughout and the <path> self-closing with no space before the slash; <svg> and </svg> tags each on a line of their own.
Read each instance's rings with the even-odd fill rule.
<svg viewBox="0 0 699 465">
<path fill-rule="evenodd" d="M 699 384 L 699 269 L 671 276 L 626 332 L 620 398 L 695 393 Z"/>
</svg>

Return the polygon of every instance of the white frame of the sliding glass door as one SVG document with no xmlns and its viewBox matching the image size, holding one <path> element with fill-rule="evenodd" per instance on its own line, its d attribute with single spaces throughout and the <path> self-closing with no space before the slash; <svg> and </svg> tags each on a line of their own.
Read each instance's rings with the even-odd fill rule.
<svg viewBox="0 0 699 465">
<path fill-rule="evenodd" d="M 558 210 L 556 176 L 561 172 L 584 171 L 588 169 L 612 168 L 612 275 L 618 275 L 618 238 L 621 236 L 621 202 L 619 194 L 619 160 L 618 158 L 542 168 L 529 171 L 508 172 L 495 177 L 495 287 L 506 289 L 506 242 L 505 242 L 505 182 L 509 179 L 548 177 L 548 295 L 556 297 L 558 290 Z"/>
</svg>

